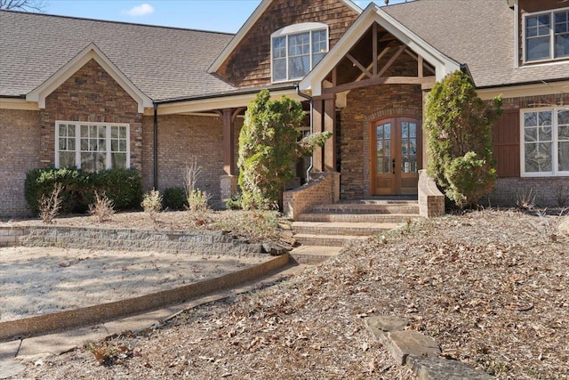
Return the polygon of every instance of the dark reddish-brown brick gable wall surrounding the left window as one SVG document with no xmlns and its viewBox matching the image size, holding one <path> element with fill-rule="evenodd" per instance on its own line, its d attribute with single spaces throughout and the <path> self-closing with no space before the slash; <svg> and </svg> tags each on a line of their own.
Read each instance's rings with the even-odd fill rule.
<svg viewBox="0 0 569 380">
<path fill-rule="evenodd" d="M 91 121 L 130 125 L 131 167 L 141 170 L 142 114 L 132 97 L 94 60 L 45 99 L 40 110 L 41 166 L 55 165 L 55 121 Z"/>
</svg>

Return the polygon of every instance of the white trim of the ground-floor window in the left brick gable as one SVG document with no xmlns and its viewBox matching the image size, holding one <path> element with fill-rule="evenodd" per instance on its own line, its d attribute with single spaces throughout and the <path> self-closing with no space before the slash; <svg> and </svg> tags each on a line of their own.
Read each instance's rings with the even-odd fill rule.
<svg viewBox="0 0 569 380">
<path fill-rule="evenodd" d="M 70 120 L 56 120 L 55 121 L 55 167 L 60 167 L 60 125 L 75 125 L 75 166 L 81 169 L 81 125 L 105 125 L 106 128 L 106 146 L 108 150 L 105 151 L 105 169 L 110 169 L 112 167 L 112 151 L 111 151 L 111 128 L 112 126 L 124 126 L 126 127 L 126 160 L 125 167 L 128 169 L 131 167 L 131 125 L 128 123 L 101 123 L 101 122 L 91 122 L 91 121 L 70 121 Z"/>
</svg>

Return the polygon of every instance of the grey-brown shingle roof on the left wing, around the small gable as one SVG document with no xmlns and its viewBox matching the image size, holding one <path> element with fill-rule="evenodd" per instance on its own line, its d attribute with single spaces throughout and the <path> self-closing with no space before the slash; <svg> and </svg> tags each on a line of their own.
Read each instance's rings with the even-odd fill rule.
<svg viewBox="0 0 569 380">
<path fill-rule="evenodd" d="M 206 72 L 232 36 L 0 11 L 0 95 L 29 93 L 92 42 L 153 100 L 232 91 Z"/>
</svg>

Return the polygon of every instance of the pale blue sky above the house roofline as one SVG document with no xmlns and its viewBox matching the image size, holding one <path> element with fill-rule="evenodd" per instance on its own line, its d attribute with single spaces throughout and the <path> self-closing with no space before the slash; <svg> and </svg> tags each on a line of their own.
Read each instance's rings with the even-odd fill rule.
<svg viewBox="0 0 569 380">
<path fill-rule="evenodd" d="M 390 0 L 389 4 L 405 0 Z M 47 0 L 44 12 L 175 28 L 236 33 L 260 0 Z M 355 1 L 365 8 L 371 1 Z M 383 5 L 384 0 L 376 0 Z"/>
</svg>

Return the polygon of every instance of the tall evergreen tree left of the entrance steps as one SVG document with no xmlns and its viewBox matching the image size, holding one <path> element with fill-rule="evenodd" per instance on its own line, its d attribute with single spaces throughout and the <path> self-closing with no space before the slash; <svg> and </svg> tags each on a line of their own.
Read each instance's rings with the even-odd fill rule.
<svg viewBox="0 0 569 380">
<path fill-rule="evenodd" d="M 262 90 L 249 103 L 239 135 L 239 186 L 244 208 L 277 208 L 284 186 L 294 178 L 294 163 L 324 145 L 332 133 L 314 133 L 298 141 L 305 113 L 286 96 L 270 101 Z"/>
</svg>

